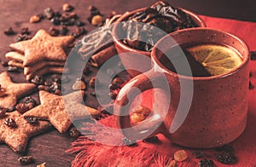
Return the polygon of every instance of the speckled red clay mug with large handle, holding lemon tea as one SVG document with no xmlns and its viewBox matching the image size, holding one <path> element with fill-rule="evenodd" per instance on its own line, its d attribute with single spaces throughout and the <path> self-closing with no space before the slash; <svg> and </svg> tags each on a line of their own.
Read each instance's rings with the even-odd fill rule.
<svg viewBox="0 0 256 167">
<path fill-rule="evenodd" d="M 191 43 L 229 46 L 240 53 L 241 64 L 230 72 L 210 77 L 189 77 L 169 70 L 162 60 L 163 53 Z M 151 60 L 152 69 L 132 78 L 116 98 L 116 124 L 125 137 L 140 140 L 162 133 L 183 147 L 207 148 L 234 141 L 245 130 L 249 49 L 239 37 L 210 28 L 181 30 L 162 37 L 154 46 Z M 183 70 L 186 61 L 175 67 Z M 153 88 L 161 91 L 154 93 L 151 114 L 138 124 L 131 123 L 132 101 Z"/>
</svg>

